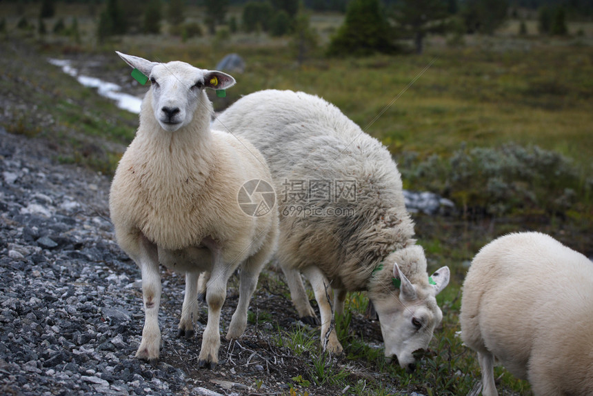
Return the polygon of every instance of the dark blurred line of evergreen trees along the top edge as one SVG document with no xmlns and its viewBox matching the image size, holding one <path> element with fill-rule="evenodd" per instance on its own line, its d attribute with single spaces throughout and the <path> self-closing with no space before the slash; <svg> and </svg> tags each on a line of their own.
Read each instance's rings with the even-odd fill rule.
<svg viewBox="0 0 593 396">
<path fill-rule="evenodd" d="M 20 0 L 23 1 L 23 0 Z M 44 19 L 53 17 L 57 0 L 41 0 L 39 33 L 45 34 Z M 99 0 L 67 0 L 97 4 Z M 183 39 L 203 34 L 229 37 L 238 30 L 265 32 L 272 36 L 297 37 L 299 54 L 316 45 L 307 10 L 345 10 L 343 25 L 334 33 L 330 56 L 394 53 L 411 41 L 415 52 L 423 51 L 429 34 L 493 34 L 509 16 L 523 19 L 518 10 L 537 10 L 541 34 L 567 34 L 566 19 L 575 10 L 581 17 L 593 9 L 593 0 L 105 0 L 97 23 L 100 42 L 130 33 L 161 33 L 163 20 L 169 33 Z M 187 21 L 186 8 L 199 6 L 203 21 Z M 228 17 L 229 7 L 241 6 L 239 18 Z M 6 23 L 4 23 L 6 25 Z M 27 26 L 26 21 L 19 26 Z M 0 24 L 0 28 L 2 28 Z M 222 26 L 222 27 L 221 27 Z M 54 32 L 70 34 L 79 41 L 78 23 L 67 27 L 63 20 Z M 522 20 L 519 34 L 525 34 Z M 300 57 L 299 57 L 300 59 Z"/>
</svg>

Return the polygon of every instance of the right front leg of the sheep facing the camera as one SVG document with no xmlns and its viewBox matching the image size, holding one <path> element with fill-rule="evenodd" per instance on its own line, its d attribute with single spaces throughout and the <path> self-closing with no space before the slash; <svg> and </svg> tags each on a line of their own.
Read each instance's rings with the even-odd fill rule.
<svg viewBox="0 0 593 396">
<path fill-rule="evenodd" d="M 221 308 L 226 297 L 226 286 L 232 269 L 223 263 L 220 248 L 213 248 L 212 273 L 206 290 L 206 302 L 208 303 L 208 324 L 202 337 L 202 348 L 198 358 L 199 367 L 214 369 L 218 362 L 221 337 L 219 331 Z"/>
</svg>

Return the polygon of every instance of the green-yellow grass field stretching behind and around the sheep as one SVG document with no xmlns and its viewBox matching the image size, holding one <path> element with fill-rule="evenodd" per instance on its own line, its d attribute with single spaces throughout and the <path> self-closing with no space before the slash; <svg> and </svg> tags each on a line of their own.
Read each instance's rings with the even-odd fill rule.
<svg viewBox="0 0 593 396">
<path fill-rule="evenodd" d="M 0 3 L 0 17 L 7 18 L 9 37 L 21 37 L 23 33 L 14 30 L 18 19 L 14 7 L 13 3 Z M 231 11 L 236 15 L 240 12 Z M 32 7 L 26 12 L 30 20 L 35 21 L 37 11 Z M 415 217 L 419 243 L 427 251 L 430 269 L 448 265 L 453 274 L 450 286 L 439 295 L 445 318 L 443 328 L 431 344 L 430 359 L 425 359 L 423 366 L 408 376 L 399 368 L 383 364 L 381 350 L 370 348 L 353 333 L 341 330 L 345 338 L 343 344 L 349 345 L 345 353 L 350 359 L 389 375 L 404 392 L 465 395 L 479 379 L 476 359 L 461 345 L 456 332 L 459 331 L 457 317 L 463 277 L 468 261 L 481 246 L 505 232 L 536 229 L 593 255 L 593 23 L 571 24 L 571 32 L 581 30 L 583 35 L 558 39 L 539 37 L 534 21 L 527 21 L 530 34 L 518 37 L 518 21 L 510 21 L 493 37 L 464 37 L 462 43 L 457 41 L 454 46 L 448 45 L 447 38 L 430 37 L 425 54 L 421 56 L 327 59 L 323 57 L 323 44 L 343 17 L 313 14 L 312 26 L 319 33 L 321 47 L 299 66 L 288 50 L 289 38 L 270 39 L 265 34 L 238 33 L 226 40 L 206 35 L 186 42 L 167 34 L 159 37 L 134 35 L 99 46 L 93 34 L 96 18 L 88 12 L 88 7 L 81 6 L 61 4 L 58 8 L 58 17 L 65 17 L 67 23 L 70 15 L 79 18 L 83 33 L 81 43 L 51 35 L 39 39 L 34 33 L 28 34 L 25 40 L 43 56 L 104 54 L 108 59 L 106 69 L 126 73 L 127 66 L 112 55 L 113 50 L 158 61 L 183 60 L 203 68 L 214 68 L 224 55 L 237 52 L 245 60 L 247 70 L 234 76 L 237 86 L 228 90 L 226 99 L 212 98 L 217 108 L 228 106 L 241 95 L 267 88 L 310 92 L 336 104 L 366 132 L 380 139 L 398 159 L 400 168 L 409 166 L 410 170 L 416 170 L 431 158 L 438 158 L 432 162 L 434 166 L 444 166 L 460 149 L 499 150 L 511 143 L 519 147 L 536 145 L 570 161 L 575 181 L 561 186 L 543 184 L 546 189 L 542 195 L 550 199 L 561 196 L 566 188 L 574 191 L 571 208 L 563 208 L 560 214 L 546 212 L 548 206 L 542 206 L 541 210 L 538 206 L 538 211 L 528 210 L 529 207 L 523 205 L 500 217 Z M 98 14 L 97 10 L 95 12 Z M 190 9 L 188 15 L 197 19 L 199 12 Z M 49 21 L 48 26 L 51 25 Z M 14 89 L 10 83 L 19 75 L 19 68 L 19 64 L 4 61 L 4 78 L 0 79 L 0 84 L 6 92 Z M 53 73 L 51 79 L 43 81 L 44 72 Z M 23 120 L 22 125 L 11 122 L 6 128 L 28 135 L 66 139 L 75 152 L 81 153 L 78 157 L 68 157 L 68 161 L 89 164 L 103 172 L 112 170 L 118 153 L 104 148 L 108 159 L 94 164 L 89 156 L 83 155 L 84 150 L 92 150 L 94 146 L 88 148 L 89 143 L 82 136 L 100 136 L 125 143 L 133 137 L 136 117 L 115 110 L 91 90 L 68 85 L 68 77 L 59 76 L 49 66 L 22 78 L 32 87 L 43 88 L 31 88 L 23 95 L 35 95 L 39 108 L 46 106 L 59 128 L 39 128 L 34 122 L 36 118 L 30 117 L 30 110 L 26 108 L 19 110 L 18 117 L 13 117 Z M 57 106 L 48 106 L 49 103 L 57 103 Z M 94 108 L 95 111 L 81 115 L 77 108 Z M 105 130 L 112 133 L 107 134 Z M 503 152 L 505 148 L 500 150 Z M 414 155 L 410 156 L 410 152 Z M 408 158 L 413 160 L 404 161 Z M 413 179 L 407 178 L 409 172 L 403 172 L 404 183 L 408 188 L 420 190 L 434 186 L 435 177 L 448 177 L 451 172 L 455 172 L 451 165 L 442 172 L 440 168 L 427 171 L 425 176 L 417 172 L 420 176 Z M 556 174 L 545 168 L 541 170 L 541 177 L 554 179 Z M 518 182 L 515 186 L 517 191 L 533 187 L 529 181 L 521 182 L 523 184 Z M 479 177 L 464 183 L 467 185 L 461 186 L 461 190 L 484 190 L 484 180 Z M 465 194 L 464 201 L 459 198 L 459 191 L 450 192 L 451 197 L 459 198 L 456 199 L 459 206 L 471 206 L 475 195 L 472 194 Z M 354 312 L 362 313 L 365 297 L 351 295 L 348 304 Z M 302 334 L 279 333 L 277 336 L 285 344 L 304 344 L 312 357 L 319 357 L 317 361 L 313 359 L 308 370 L 303 370 L 301 379 L 295 380 L 301 385 L 301 394 L 307 383 L 325 380 L 340 386 L 349 385 L 352 389 L 360 388 L 360 393 L 356 394 L 385 394 L 380 380 L 363 387 L 359 379 L 352 380 L 339 368 L 326 364 L 316 342 L 295 341 L 295 338 L 302 338 Z M 309 336 L 313 335 L 305 335 L 305 339 Z M 530 394 L 525 382 L 517 381 L 502 368 L 496 368 L 496 377 L 500 379 L 502 394 Z"/>
</svg>

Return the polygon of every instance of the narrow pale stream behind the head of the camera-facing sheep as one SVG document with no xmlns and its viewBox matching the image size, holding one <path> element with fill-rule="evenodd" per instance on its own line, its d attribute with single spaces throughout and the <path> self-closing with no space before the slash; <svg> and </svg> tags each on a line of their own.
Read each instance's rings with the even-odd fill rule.
<svg viewBox="0 0 593 396">
<path fill-rule="evenodd" d="M 62 68 L 62 71 L 65 72 L 67 75 L 70 75 L 77 79 L 79 83 L 83 86 L 90 87 L 90 88 L 97 88 L 99 95 L 106 97 L 108 99 L 112 99 L 117 103 L 117 107 L 128 110 L 129 112 L 133 112 L 134 114 L 140 113 L 140 105 L 142 103 L 142 99 L 139 97 L 135 97 L 134 95 L 127 94 L 125 92 L 121 92 L 121 87 L 117 84 L 110 83 L 108 81 L 103 81 L 101 79 L 97 79 L 96 77 L 89 77 L 79 75 L 77 69 L 72 67 L 72 61 L 68 59 L 48 59 L 54 66 L 58 66 Z"/>
</svg>

